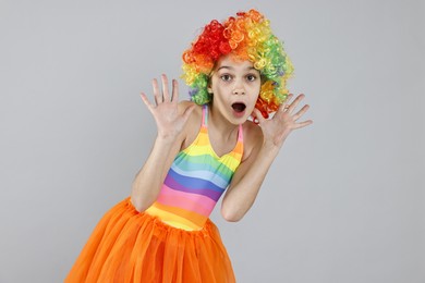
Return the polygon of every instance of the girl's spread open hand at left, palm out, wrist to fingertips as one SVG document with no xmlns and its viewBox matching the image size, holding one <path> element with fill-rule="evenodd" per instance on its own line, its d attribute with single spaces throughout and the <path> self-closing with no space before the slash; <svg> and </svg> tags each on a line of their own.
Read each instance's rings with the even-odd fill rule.
<svg viewBox="0 0 425 283">
<path fill-rule="evenodd" d="M 162 91 L 160 91 L 156 78 L 153 81 L 155 104 L 150 103 L 144 93 L 141 94 L 143 102 L 153 114 L 158 128 L 158 137 L 173 140 L 187 122 L 195 106 L 187 107 L 183 113 L 179 113 L 179 85 L 172 79 L 171 96 L 168 90 L 168 78 L 161 75 Z"/>
</svg>

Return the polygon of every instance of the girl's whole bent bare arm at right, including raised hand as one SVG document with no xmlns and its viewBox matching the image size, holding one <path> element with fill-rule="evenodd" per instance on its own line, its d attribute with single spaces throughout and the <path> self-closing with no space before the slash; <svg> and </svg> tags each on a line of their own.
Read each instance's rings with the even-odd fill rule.
<svg viewBox="0 0 425 283">
<path fill-rule="evenodd" d="M 287 101 L 291 98 L 292 95 Z M 288 135 L 292 130 L 313 123 L 311 120 L 296 122 L 307 111 L 308 106 L 292 114 L 303 98 L 304 95 L 300 95 L 291 104 L 283 103 L 270 120 L 265 120 L 259 111 L 255 110 L 260 131 L 251 133 L 254 134 L 255 140 L 253 149 L 238 168 L 223 197 L 221 214 L 226 220 L 239 221 L 245 216 L 254 204 L 263 181 Z"/>
</svg>

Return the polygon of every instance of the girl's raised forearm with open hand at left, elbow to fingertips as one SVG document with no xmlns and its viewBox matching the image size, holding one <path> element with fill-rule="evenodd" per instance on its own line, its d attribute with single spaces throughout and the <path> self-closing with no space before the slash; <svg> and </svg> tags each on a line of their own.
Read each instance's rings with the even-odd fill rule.
<svg viewBox="0 0 425 283">
<path fill-rule="evenodd" d="M 184 140 L 184 127 L 194 109 L 192 103 L 178 103 L 178 83 L 173 79 L 172 95 L 169 95 L 168 79 L 161 76 L 162 91 L 154 79 L 155 104 L 145 94 L 142 100 L 153 114 L 158 135 L 146 163 L 133 181 L 131 200 L 137 211 L 146 210 L 158 197 L 166 174 Z"/>
</svg>

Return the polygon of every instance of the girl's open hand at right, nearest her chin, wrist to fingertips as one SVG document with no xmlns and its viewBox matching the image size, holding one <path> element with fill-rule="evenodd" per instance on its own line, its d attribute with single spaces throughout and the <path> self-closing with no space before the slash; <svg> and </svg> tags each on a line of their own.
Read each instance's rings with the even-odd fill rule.
<svg viewBox="0 0 425 283">
<path fill-rule="evenodd" d="M 313 123 L 312 120 L 296 122 L 308 110 L 309 106 L 305 104 L 300 111 L 293 114 L 292 112 L 295 107 L 305 96 L 299 95 L 295 100 L 289 103 L 292 97 L 292 94 L 288 96 L 284 103 L 279 107 L 270 120 L 264 119 L 260 111 L 254 109 L 254 113 L 263 131 L 265 145 L 280 148 L 292 130 L 301 128 Z"/>
</svg>

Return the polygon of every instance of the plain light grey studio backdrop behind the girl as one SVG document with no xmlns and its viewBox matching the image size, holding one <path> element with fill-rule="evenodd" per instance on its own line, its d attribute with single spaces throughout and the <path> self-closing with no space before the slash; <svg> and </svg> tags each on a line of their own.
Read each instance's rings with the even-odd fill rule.
<svg viewBox="0 0 425 283">
<path fill-rule="evenodd" d="M 314 124 L 220 227 L 239 282 L 425 282 L 424 1 L 0 1 L 0 282 L 61 282 L 130 193 L 138 94 L 212 19 L 257 8 Z M 181 82 L 182 98 L 187 98 Z"/>
</svg>

